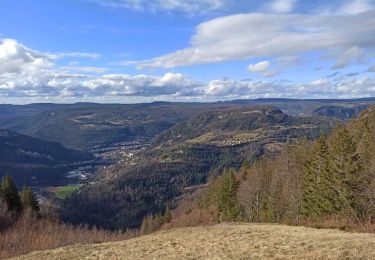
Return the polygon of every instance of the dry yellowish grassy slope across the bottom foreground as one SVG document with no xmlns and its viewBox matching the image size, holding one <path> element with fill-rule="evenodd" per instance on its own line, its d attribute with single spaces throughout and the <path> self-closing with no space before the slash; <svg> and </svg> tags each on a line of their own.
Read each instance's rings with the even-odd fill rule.
<svg viewBox="0 0 375 260">
<path fill-rule="evenodd" d="M 74 245 L 18 259 L 375 259 L 375 235 L 263 224 L 161 231 L 114 243 Z"/>
</svg>

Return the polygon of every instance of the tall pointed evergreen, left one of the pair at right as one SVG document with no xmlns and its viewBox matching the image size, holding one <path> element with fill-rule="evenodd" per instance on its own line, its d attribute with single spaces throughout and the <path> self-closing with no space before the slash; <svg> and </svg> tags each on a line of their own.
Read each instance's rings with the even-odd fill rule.
<svg viewBox="0 0 375 260">
<path fill-rule="evenodd" d="M 332 212 L 330 182 L 328 145 L 325 136 L 322 135 L 315 142 L 312 155 L 305 163 L 302 179 L 302 215 L 316 217 Z"/>
</svg>

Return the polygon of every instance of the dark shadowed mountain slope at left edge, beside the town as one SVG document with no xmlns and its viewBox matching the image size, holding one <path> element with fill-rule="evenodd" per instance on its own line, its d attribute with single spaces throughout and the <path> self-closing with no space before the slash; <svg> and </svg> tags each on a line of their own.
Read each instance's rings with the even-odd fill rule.
<svg viewBox="0 0 375 260">
<path fill-rule="evenodd" d="M 91 160 L 90 153 L 0 129 L 0 178 L 9 174 L 18 186 L 60 184 L 71 167 Z"/>
</svg>

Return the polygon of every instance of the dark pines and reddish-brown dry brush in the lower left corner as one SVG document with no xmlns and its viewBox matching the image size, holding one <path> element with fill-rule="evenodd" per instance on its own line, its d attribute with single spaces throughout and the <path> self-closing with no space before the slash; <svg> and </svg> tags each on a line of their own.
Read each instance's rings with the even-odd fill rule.
<svg viewBox="0 0 375 260">
<path fill-rule="evenodd" d="M 10 176 L 0 182 L 0 259 L 77 243 L 100 243 L 137 236 L 117 231 L 60 223 L 47 205 L 39 205 L 30 188 L 17 190 Z"/>
</svg>

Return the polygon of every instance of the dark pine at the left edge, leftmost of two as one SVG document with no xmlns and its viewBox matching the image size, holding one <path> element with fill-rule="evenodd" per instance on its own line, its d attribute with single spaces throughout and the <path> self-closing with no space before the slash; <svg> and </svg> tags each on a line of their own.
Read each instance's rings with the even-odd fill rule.
<svg viewBox="0 0 375 260">
<path fill-rule="evenodd" d="M 1 183 L 1 199 L 7 204 L 8 210 L 20 213 L 22 210 L 21 199 L 12 177 L 6 175 Z"/>
</svg>

